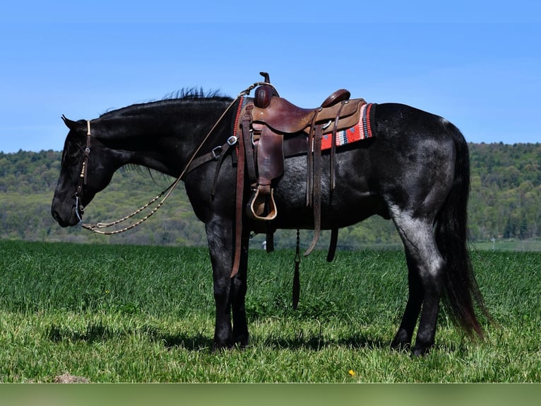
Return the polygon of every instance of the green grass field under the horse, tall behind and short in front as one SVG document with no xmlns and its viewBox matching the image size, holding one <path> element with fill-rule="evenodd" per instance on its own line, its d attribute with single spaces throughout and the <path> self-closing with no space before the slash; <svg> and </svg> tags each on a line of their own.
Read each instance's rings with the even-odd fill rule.
<svg viewBox="0 0 541 406">
<path fill-rule="evenodd" d="M 0 381 L 540 382 L 541 253 L 474 251 L 494 321 L 472 342 L 441 312 L 422 359 L 388 349 L 407 295 L 401 251 L 315 252 L 291 308 L 292 251 L 252 250 L 251 344 L 210 352 L 205 248 L 0 241 Z"/>
</svg>

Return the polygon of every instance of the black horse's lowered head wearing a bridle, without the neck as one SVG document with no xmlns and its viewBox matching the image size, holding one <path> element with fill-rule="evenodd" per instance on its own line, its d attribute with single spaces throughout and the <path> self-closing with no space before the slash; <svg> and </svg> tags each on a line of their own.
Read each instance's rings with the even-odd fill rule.
<svg viewBox="0 0 541 406">
<path fill-rule="evenodd" d="M 72 121 L 62 116 L 69 128 L 64 143 L 60 175 L 54 191 L 51 214 L 62 227 L 75 226 L 84 207 L 110 182 L 118 168 L 112 151 L 100 142 L 100 128 L 86 120 Z"/>
</svg>

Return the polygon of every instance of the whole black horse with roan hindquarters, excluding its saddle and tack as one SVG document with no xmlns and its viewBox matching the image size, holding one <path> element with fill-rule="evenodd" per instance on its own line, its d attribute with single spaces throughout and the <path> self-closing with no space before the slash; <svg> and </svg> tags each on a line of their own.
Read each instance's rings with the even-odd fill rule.
<svg viewBox="0 0 541 406">
<path fill-rule="evenodd" d="M 227 110 L 233 101 L 234 108 Z M 52 216 L 63 227 L 78 224 L 82 208 L 126 164 L 179 177 L 205 134 L 209 136 L 198 156 L 226 143 L 237 103 L 218 94 L 188 91 L 177 98 L 106 112 L 95 120 L 75 122 L 64 117 L 69 134 Z M 415 355 L 426 353 L 434 344 L 441 299 L 456 325 L 468 335 L 482 337 L 474 307 L 477 304 L 487 312 L 466 245 L 468 144 L 442 117 L 402 104 L 376 107 L 374 136 L 337 149 L 332 192 L 328 187 L 329 153 L 323 153 L 321 228 L 350 226 L 374 214 L 396 224 L 408 264 L 409 297 L 391 347 L 410 347 L 420 315 L 411 350 Z M 231 277 L 237 179 L 234 158 L 234 153 L 222 157 L 217 180 L 217 160 L 203 163 L 183 179 L 195 214 L 206 226 L 216 306 L 214 348 L 248 343 L 244 298 L 249 236 L 251 231 L 261 231 L 259 222 L 243 214 L 239 272 Z M 307 158 L 286 158 L 284 168 L 274 190 L 279 214 L 273 226 L 313 229 L 314 215 L 304 193 Z"/>
</svg>

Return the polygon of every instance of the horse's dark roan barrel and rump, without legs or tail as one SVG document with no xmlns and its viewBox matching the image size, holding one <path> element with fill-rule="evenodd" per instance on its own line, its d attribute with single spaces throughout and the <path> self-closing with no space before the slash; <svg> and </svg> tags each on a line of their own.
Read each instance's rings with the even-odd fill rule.
<svg viewBox="0 0 541 406">
<path fill-rule="evenodd" d="M 443 117 L 409 105 L 376 105 L 373 137 L 338 149 L 335 190 L 330 190 L 328 154 L 323 155 L 322 227 L 343 227 L 373 214 L 385 218 L 391 207 L 432 211 L 443 204 L 455 173 L 457 140 L 462 135 Z M 278 228 L 311 227 L 306 205 L 306 157 L 286 159 L 276 187 L 283 221 Z"/>
</svg>

